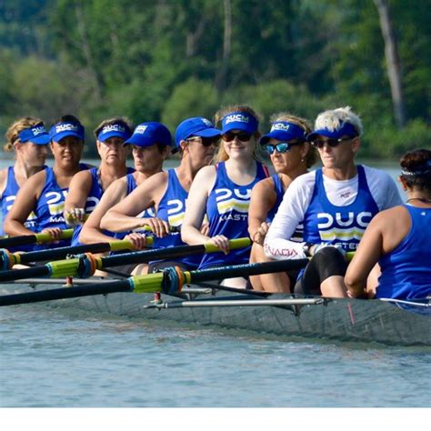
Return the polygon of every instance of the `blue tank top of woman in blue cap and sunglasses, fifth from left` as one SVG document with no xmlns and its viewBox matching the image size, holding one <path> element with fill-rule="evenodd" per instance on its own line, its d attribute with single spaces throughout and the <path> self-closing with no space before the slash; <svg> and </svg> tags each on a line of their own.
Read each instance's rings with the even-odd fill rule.
<svg viewBox="0 0 431 431">
<path fill-rule="evenodd" d="M 185 200 L 188 197 L 188 192 L 176 176 L 175 169 L 167 171 L 167 187 L 165 195 L 160 200 L 156 215 L 158 218 L 165 220 L 170 226 L 181 226 L 185 215 Z M 172 246 L 185 246 L 181 240 L 179 233 L 172 233 L 164 238 L 155 238 L 155 248 L 165 248 Z M 195 269 L 199 265 L 202 255 L 192 255 L 185 257 L 175 257 L 175 262 L 185 264 L 190 269 Z M 166 259 L 169 260 L 169 259 Z"/>
</svg>

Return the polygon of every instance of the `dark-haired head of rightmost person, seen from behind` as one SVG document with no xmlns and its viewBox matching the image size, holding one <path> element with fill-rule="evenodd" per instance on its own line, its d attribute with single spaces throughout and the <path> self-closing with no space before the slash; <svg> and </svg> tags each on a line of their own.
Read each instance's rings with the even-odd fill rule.
<svg viewBox="0 0 431 431">
<path fill-rule="evenodd" d="M 399 162 L 401 175 L 409 188 L 431 190 L 431 151 L 418 149 L 409 151 Z"/>
</svg>

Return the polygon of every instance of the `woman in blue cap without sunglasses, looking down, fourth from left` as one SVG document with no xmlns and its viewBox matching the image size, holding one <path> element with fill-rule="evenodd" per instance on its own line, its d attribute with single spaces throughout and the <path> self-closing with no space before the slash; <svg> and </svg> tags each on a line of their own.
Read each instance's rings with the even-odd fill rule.
<svg viewBox="0 0 431 431">
<path fill-rule="evenodd" d="M 79 236 L 79 241 L 82 243 L 112 241 L 112 236 L 106 235 L 106 231 L 100 227 L 102 217 L 147 178 L 162 172 L 163 162 L 171 151 L 172 136 L 165 125 L 155 122 L 143 123 L 135 128 L 134 134 L 125 141 L 125 144 L 132 145 L 135 172 L 115 180 L 106 189 L 95 210 L 83 225 Z M 154 212 L 151 212 L 150 208 L 145 210 L 142 216 L 154 216 Z"/>
</svg>

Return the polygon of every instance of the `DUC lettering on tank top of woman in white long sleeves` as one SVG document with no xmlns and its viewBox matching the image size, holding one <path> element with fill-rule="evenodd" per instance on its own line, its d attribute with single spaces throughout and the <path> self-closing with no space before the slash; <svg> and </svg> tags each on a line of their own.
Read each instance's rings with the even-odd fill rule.
<svg viewBox="0 0 431 431">
<path fill-rule="evenodd" d="M 346 214 L 336 213 L 335 216 L 327 213 L 317 214 L 320 223 L 317 224 L 320 239 L 322 241 L 344 241 L 359 242 L 364 235 L 366 226 L 373 218 L 370 212 L 361 212 L 355 214 L 349 212 Z"/>
</svg>

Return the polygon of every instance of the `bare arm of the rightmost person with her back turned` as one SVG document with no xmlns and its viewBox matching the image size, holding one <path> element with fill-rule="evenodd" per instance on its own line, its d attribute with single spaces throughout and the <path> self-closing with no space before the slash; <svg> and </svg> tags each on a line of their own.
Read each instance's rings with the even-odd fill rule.
<svg viewBox="0 0 431 431">
<path fill-rule="evenodd" d="M 356 253 L 345 276 L 350 296 L 363 296 L 366 279 L 383 254 L 382 226 L 386 221 L 383 213 L 377 214 L 366 227 L 366 232 L 356 249 Z"/>
</svg>

